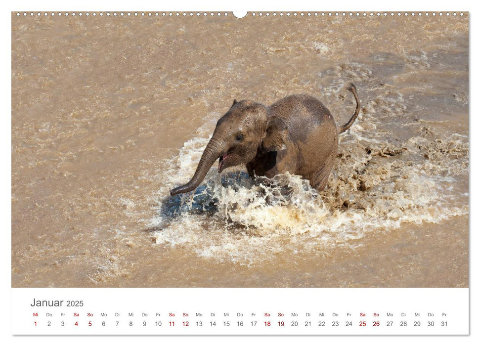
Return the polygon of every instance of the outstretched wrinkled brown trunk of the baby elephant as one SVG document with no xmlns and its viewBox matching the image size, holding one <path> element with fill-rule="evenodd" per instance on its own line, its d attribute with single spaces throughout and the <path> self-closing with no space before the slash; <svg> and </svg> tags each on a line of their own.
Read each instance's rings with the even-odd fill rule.
<svg viewBox="0 0 480 346">
<path fill-rule="evenodd" d="M 197 170 L 195 171 L 195 174 L 193 174 L 193 177 L 185 185 L 178 186 L 175 189 L 170 190 L 170 194 L 175 196 L 176 194 L 186 193 L 196 189 L 205 178 L 205 175 L 207 175 L 210 167 L 212 167 L 214 162 L 220 156 L 222 150 L 221 147 L 222 145 L 220 145 L 220 142 L 217 140 L 216 136 L 213 136 L 203 151 L 202 158 L 198 163 Z"/>
</svg>

